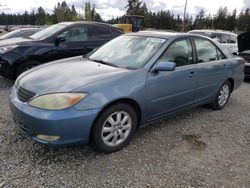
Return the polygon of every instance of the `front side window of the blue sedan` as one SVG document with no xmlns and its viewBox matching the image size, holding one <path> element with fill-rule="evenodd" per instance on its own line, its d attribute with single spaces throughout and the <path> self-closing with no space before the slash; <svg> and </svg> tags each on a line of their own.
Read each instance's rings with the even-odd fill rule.
<svg viewBox="0 0 250 188">
<path fill-rule="evenodd" d="M 192 46 L 190 40 L 179 40 L 171 44 L 159 61 L 174 62 L 178 67 L 193 63 Z"/>
</svg>

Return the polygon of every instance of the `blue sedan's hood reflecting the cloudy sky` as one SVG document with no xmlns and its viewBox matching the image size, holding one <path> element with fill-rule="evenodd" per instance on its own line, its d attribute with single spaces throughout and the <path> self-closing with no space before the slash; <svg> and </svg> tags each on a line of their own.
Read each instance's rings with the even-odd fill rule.
<svg viewBox="0 0 250 188">
<path fill-rule="evenodd" d="M 39 95 L 70 92 L 127 71 L 75 57 L 31 69 L 17 79 L 16 85 Z"/>
</svg>

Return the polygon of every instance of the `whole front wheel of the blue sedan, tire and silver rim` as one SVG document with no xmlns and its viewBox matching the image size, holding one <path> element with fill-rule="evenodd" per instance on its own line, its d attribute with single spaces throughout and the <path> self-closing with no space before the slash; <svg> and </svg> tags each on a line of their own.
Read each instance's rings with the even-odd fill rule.
<svg viewBox="0 0 250 188">
<path fill-rule="evenodd" d="M 112 153 L 129 144 L 137 127 L 137 115 L 128 104 L 117 103 L 101 112 L 91 131 L 95 149 Z"/>
</svg>

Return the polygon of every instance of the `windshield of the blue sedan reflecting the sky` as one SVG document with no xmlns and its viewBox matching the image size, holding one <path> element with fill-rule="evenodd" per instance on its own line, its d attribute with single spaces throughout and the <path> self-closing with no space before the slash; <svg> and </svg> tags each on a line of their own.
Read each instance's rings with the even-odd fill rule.
<svg viewBox="0 0 250 188">
<path fill-rule="evenodd" d="M 90 55 L 89 59 L 118 67 L 138 69 L 148 62 L 165 41 L 160 38 L 121 36 L 102 46 Z"/>
</svg>

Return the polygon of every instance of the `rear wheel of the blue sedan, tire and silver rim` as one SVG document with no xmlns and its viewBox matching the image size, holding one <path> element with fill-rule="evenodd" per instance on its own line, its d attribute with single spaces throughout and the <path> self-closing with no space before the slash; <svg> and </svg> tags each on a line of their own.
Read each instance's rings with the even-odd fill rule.
<svg viewBox="0 0 250 188">
<path fill-rule="evenodd" d="M 231 83 L 229 81 L 224 82 L 223 85 L 220 87 L 214 102 L 211 104 L 212 108 L 214 110 L 223 109 L 230 98 L 231 91 Z"/>
</svg>

